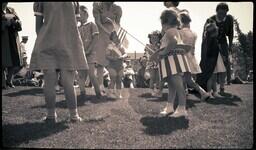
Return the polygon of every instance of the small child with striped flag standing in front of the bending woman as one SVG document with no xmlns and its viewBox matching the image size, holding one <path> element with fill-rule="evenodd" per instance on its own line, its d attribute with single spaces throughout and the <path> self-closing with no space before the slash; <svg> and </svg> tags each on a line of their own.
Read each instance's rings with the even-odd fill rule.
<svg viewBox="0 0 256 150">
<path fill-rule="evenodd" d="M 111 43 L 107 47 L 106 58 L 109 61 L 107 69 L 110 75 L 110 85 L 109 85 L 109 97 L 111 98 L 122 98 L 121 87 L 122 87 L 122 77 L 124 73 L 123 62 L 127 54 L 125 49 L 121 47 L 120 41 L 117 38 L 115 32 L 111 34 Z M 117 93 L 114 91 L 116 85 Z"/>
</svg>

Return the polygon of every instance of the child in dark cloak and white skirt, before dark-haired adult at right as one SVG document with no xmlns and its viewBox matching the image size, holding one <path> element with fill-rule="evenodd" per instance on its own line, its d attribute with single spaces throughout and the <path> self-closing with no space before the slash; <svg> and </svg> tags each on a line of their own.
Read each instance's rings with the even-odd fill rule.
<svg viewBox="0 0 256 150">
<path fill-rule="evenodd" d="M 202 73 L 198 74 L 198 83 L 211 95 L 211 98 L 221 98 L 217 93 L 217 73 L 225 72 L 222 57 L 220 55 L 220 45 L 218 44 L 218 27 L 212 21 L 205 26 L 203 37 L 200 67 Z M 211 91 L 213 90 L 213 93 Z"/>
</svg>

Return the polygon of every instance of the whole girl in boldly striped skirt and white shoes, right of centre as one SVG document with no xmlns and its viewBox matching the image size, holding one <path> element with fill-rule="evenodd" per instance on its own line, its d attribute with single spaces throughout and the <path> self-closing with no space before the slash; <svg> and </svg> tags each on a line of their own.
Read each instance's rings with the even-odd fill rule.
<svg viewBox="0 0 256 150">
<path fill-rule="evenodd" d="M 165 32 L 161 39 L 159 69 L 161 79 L 168 81 L 168 102 L 163 115 L 169 115 L 174 112 L 174 99 L 177 93 L 179 104 L 173 117 L 186 116 L 186 94 L 183 85 L 183 73 L 190 72 L 187 57 L 185 56 L 191 46 L 184 45 L 180 33 L 177 13 L 173 10 L 164 10 L 161 14 L 161 23 Z"/>
</svg>

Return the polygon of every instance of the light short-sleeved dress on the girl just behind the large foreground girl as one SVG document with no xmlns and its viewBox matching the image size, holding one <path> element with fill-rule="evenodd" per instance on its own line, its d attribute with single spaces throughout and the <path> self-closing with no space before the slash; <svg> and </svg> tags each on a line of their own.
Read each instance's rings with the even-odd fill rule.
<svg viewBox="0 0 256 150">
<path fill-rule="evenodd" d="M 87 22 L 79 27 L 81 38 L 84 45 L 85 53 L 88 51 L 88 48 L 91 46 L 93 36 L 99 34 L 98 27 L 93 22 Z M 97 63 L 96 61 L 96 51 L 95 46 L 89 54 L 86 54 L 86 59 L 88 63 Z"/>
</svg>

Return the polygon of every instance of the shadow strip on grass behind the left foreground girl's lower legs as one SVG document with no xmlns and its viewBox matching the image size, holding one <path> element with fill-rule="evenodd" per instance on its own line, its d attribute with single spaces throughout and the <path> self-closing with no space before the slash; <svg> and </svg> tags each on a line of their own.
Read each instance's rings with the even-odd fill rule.
<svg viewBox="0 0 256 150">
<path fill-rule="evenodd" d="M 86 102 L 90 102 L 90 103 L 93 103 L 93 104 L 98 104 L 98 103 L 106 103 L 106 102 L 115 101 L 115 100 L 116 99 L 111 99 L 111 98 L 108 98 L 108 97 L 103 97 L 102 99 L 97 99 L 97 97 L 95 95 L 86 95 L 85 97 L 81 96 L 81 95 L 78 95 L 77 96 L 77 107 L 85 106 Z M 55 106 L 56 106 L 56 108 L 67 108 L 67 101 L 64 99 L 64 100 L 61 100 L 59 102 L 56 102 Z M 34 109 L 34 108 L 45 108 L 45 105 L 33 106 L 31 108 L 32 109 Z"/>
</svg>

